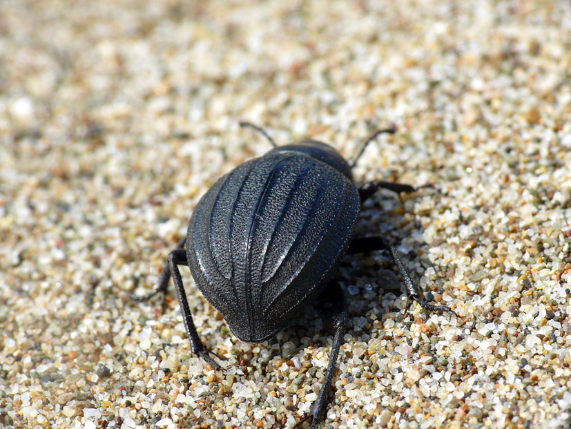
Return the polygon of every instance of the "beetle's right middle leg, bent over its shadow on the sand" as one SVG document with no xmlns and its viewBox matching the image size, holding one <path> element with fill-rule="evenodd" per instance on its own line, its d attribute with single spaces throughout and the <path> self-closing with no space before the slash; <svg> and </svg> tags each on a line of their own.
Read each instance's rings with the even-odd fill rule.
<svg viewBox="0 0 571 429">
<path fill-rule="evenodd" d="M 412 301 L 416 301 L 418 304 L 420 304 L 420 307 L 423 307 L 423 309 L 426 309 L 429 312 L 447 312 L 456 314 L 454 310 L 452 310 L 450 307 L 447 307 L 447 305 L 432 305 L 423 300 L 423 298 L 420 298 L 418 289 L 416 289 L 416 285 L 412 283 L 407 269 L 403 264 L 403 260 L 400 259 L 398 251 L 393 245 L 391 245 L 391 243 L 389 243 L 389 240 L 386 238 L 381 236 L 354 238 L 349 245 L 349 249 L 347 249 L 347 254 L 359 254 L 372 250 L 388 250 L 389 254 L 391 254 L 391 258 L 393 258 L 393 261 L 398 268 L 400 277 L 403 278 L 403 283 L 405 283 L 405 287 L 407 289 L 407 297 L 410 300 L 407 303 L 406 312 L 408 312 Z"/>
</svg>

